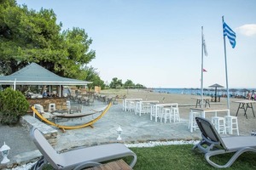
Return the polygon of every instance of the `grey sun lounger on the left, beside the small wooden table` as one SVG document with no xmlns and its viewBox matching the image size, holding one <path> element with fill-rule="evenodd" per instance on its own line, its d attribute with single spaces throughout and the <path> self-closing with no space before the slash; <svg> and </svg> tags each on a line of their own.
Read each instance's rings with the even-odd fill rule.
<svg viewBox="0 0 256 170">
<path fill-rule="evenodd" d="M 31 169 L 42 169 L 47 162 L 54 169 L 82 169 L 125 156 L 133 157 L 130 167 L 133 167 L 137 161 L 136 154 L 124 144 L 102 144 L 57 153 L 37 128 L 32 128 L 30 135 L 43 155 Z"/>
</svg>

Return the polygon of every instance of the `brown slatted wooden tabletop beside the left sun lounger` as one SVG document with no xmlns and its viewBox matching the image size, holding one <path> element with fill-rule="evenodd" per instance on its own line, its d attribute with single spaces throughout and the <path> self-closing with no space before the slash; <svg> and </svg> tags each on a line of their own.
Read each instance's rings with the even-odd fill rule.
<svg viewBox="0 0 256 170">
<path fill-rule="evenodd" d="M 132 170 L 132 168 L 124 160 L 118 160 L 96 167 L 89 167 L 86 170 Z"/>
</svg>

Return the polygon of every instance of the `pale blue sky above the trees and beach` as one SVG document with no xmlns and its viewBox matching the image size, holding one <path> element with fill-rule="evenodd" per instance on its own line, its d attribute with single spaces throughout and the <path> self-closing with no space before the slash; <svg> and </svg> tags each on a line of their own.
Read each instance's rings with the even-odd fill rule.
<svg viewBox="0 0 256 170">
<path fill-rule="evenodd" d="M 201 26 L 207 44 L 204 88 L 226 86 L 222 16 L 236 32 L 226 38 L 230 88 L 256 88 L 255 0 L 18 0 L 52 8 L 62 29 L 83 28 L 93 39 L 103 81 L 118 77 L 148 88 L 201 87 Z"/>
</svg>

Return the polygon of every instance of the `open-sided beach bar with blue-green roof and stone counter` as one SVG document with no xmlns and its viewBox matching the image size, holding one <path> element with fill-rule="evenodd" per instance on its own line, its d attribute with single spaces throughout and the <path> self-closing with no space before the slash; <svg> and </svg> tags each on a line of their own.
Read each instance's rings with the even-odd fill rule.
<svg viewBox="0 0 256 170">
<path fill-rule="evenodd" d="M 55 103 L 56 107 L 60 109 L 67 103 L 65 86 L 85 87 L 88 83 L 91 82 L 60 77 L 36 63 L 31 63 L 9 76 L 0 77 L 1 86 L 10 86 L 15 90 L 20 90 L 26 95 L 30 106 L 37 103 L 47 108 L 49 103 Z M 32 87 L 37 87 L 37 90 L 32 90 Z M 46 88 L 49 91 L 47 94 L 49 96 L 44 97 L 43 93 Z"/>
</svg>

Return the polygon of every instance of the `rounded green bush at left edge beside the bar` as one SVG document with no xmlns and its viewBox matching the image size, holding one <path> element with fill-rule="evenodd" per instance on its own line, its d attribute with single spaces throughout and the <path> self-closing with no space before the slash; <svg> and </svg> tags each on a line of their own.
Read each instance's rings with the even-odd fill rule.
<svg viewBox="0 0 256 170">
<path fill-rule="evenodd" d="M 16 124 L 20 116 L 26 114 L 29 103 L 20 91 L 6 88 L 0 92 L 0 122 L 2 124 Z"/>
</svg>

